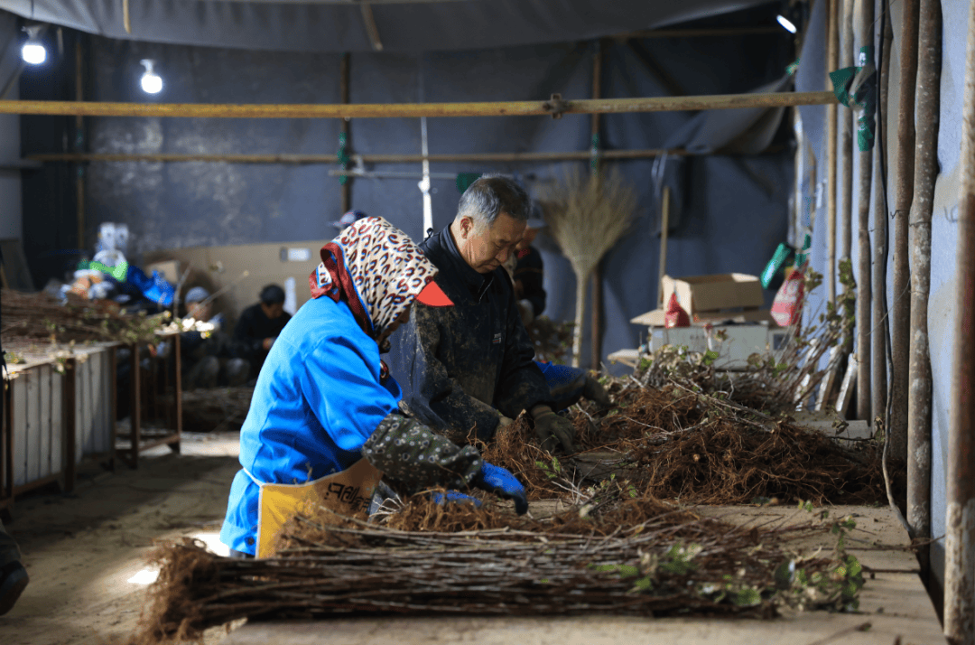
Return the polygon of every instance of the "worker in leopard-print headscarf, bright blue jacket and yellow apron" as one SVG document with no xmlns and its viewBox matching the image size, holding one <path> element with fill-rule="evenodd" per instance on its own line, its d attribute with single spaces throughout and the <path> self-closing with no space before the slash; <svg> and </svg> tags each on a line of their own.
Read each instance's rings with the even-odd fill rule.
<svg viewBox="0 0 975 645">
<path fill-rule="evenodd" d="M 381 218 L 356 222 L 322 248 L 308 279 L 312 300 L 271 347 L 241 428 L 243 468 L 220 531 L 232 555 L 273 553 L 284 522 L 308 502 L 345 515 L 368 508 L 383 476 L 413 492 L 473 486 L 527 511 L 514 475 L 400 412 L 400 387 L 379 359 L 413 301 L 452 305 L 436 274 Z M 469 499 L 448 494 L 458 497 Z"/>
</svg>

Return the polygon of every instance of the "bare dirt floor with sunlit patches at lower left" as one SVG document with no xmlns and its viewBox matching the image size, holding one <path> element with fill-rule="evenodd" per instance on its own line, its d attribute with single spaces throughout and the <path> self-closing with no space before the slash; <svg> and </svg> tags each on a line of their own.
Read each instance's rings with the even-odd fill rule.
<svg viewBox="0 0 975 645">
<path fill-rule="evenodd" d="M 183 434 L 182 454 L 143 453 L 137 470 L 95 465 L 72 495 L 19 499 L 7 529 L 30 584 L 0 617 L 3 645 L 122 643 L 135 629 L 151 579 L 143 557 L 159 540 L 196 536 L 226 553 L 217 533 L 239 464 L 238 435 Z M 223 551 L 218 549 L 223 548 Z M 208 633 L 219 642 L 224 630 Z"/>
</svg>

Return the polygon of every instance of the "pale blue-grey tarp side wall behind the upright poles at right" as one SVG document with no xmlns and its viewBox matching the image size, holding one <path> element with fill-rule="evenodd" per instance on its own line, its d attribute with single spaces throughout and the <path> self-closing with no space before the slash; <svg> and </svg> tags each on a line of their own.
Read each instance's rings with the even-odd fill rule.
<svg viewBox="0 0 975 645">
<path fill-rule="evenodd" d="M 940 175 L 935 184 L 934 215 L 931 231 L 931 296 L 928 304 L 928 330 L 931 351 L 931 369 L 933 376 L 932 410 L 932 469 L 931 469 L 931 531 L 936 538 L 943 538 L 945 534 L 945 487 L 949 411 L 952 400 L 952 372 L 955 368 L 953 357 L 953 343 L 956 333 L 956 216 L 958 205 L 958 170 L 959 153 L 961 147 L 961 108 L 964 95 L 964 60 L 967 39 L 968 3 L 943 2 L 943 49 L 941 71 L 941 125 L 938 136 L 938 161 L 941 166 Z M 890 53 L 890 90 L 889 104 L 892 106 L 888 114 L 888 132 L 885 150 L 887 157 L 887 203 L 893 208 L 894 185 L 893 162 L 897 153 L 896 123 L 900 94 L 900 44 L 898 35 L 901 29 L 901 5 L 890 4 L 891 19 L 894 27 L 894 41 Z M 816 3 L 814 14 L 810 22 L 810 31 L 802 51 L 802 67 L 797 79 L 797 90 L 813 91 L 823 89 L 824 61 L 824 3 Z M 860 44 L 855 43 L 859 49 Z M 849 110 L 840 107 L 840 118 L 850 118 Z M 808 143 L 816 155 L 818 178 L 823 181 L 826 177 L 826 108 L 810 106 L 800 108 L 802 127 Z M 853 185 L 858 185 L 858 168 L 854 161 Z M 825 184 L 824 184 L 825 187 Z M 813 191 L 810 190 L 812 195 Z M 825 195 L 825 191 L 824 191 Z M 853 266 L 857 265 L 856 243 L 856 204 L 857 195 L 854 192 L 854 232 L 853 232 Z M 871 211 L 873 214 L 873 210 Z M 873 220 L 872 220 L 873 222 Z M 893 221 L 891 226 L 891 242 L 893 240 Z M 874 227 L 871 224 L 872 245 Z M 813 233 L 813 267 L 825 274 L 826 261 L 826 208 L 824 203 L 815 211 L 815 227 Z M 894 294 L 891 281 L 893 278 L 893 253 L 887 266 L 887 302 L 893 303 L 896 298 L 910 298 L 910 294 Z M 821 306 L 825 289 L 814 298 L 812 311 Z M 970 330 L 964 330 L 970 333 Z M 939 540 L 931 550 L 932 569 L 937 585 L 944 584 L 944 541 Z"/>
</svg>

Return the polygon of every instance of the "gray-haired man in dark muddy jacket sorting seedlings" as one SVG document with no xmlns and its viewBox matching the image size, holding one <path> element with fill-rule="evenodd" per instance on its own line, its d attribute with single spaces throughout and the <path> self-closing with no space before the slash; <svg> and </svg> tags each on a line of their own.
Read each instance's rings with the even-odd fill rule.
<svg viewBox="0 0 975 645">
<path fill-rule="evenodd" d="M 453 222 L 420 244 L 454 306 L 413 305 L 392 369 L 409 411 L 455 442 L 487 441 L 527 410 L 543 448 L 572 453 L 574 427 L 550 407 L 502 267 L 525 232 L 529 203 L 515 181 L 486 175 L 464 191 Z"/>
</svg>

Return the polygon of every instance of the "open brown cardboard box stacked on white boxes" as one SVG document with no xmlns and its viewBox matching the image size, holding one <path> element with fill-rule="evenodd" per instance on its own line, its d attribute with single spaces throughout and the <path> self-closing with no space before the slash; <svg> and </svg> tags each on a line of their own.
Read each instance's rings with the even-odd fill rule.
<svg viewBox="0 0 975 645">
<path fill-rule="evenodd" d="M 685 278 L 663 278 L 664 302 L 671 294 L 683 310 L 693 315 L 699 311 L 718 311 L 735 307 L 761 307 L 765 303 L 758 276 L 746 273 L 717 273 Z"/>
</svg>

